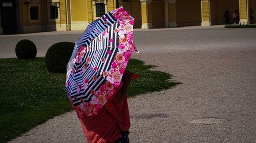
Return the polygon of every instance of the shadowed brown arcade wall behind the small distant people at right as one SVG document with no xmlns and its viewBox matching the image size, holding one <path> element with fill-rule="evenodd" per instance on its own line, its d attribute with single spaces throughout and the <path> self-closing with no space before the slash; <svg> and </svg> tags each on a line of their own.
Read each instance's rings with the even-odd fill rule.
<svg viewBox="0 0 256 143">
<path fill-rule="evenodd" d="M 232 22 L 232 14 L 235 10 L 239 10 L 239 0 L 215 0 L 211 1 L 211 24 L 224 24 L 224 13 L 229 11 L 229 21 Z"/>
</svg>

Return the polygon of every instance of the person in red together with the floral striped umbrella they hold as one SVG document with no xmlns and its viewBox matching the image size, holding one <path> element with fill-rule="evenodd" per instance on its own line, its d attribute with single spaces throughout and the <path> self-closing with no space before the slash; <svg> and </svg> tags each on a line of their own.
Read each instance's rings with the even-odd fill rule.
<svg viewBox="0 0 256 143">
<path fill-rule="evenodd" d="M 91 22 L 67 65 L 66 92 L 88 143 L 129 142 L 127 89 L 139 76 L 125 70 L 133 51 L 134 18 L 123 7 Z"/>
</svg>

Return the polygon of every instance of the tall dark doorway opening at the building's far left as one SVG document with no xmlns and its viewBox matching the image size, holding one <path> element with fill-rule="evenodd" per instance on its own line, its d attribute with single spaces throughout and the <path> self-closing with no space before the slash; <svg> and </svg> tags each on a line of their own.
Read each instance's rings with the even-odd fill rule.
<svg viewBox="0 0 256 143">
<path fill-rule="evenodd" d="M 2 0 L 0 3 L 3 34 L 16 34 L 15 0 Z"/>
</svg>

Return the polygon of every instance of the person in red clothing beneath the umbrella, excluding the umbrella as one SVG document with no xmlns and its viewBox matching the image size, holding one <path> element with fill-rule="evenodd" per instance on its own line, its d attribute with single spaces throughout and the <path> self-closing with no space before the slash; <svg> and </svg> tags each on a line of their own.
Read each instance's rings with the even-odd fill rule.
<svg viewBox="0 0 256 143">
<path fill-rule="evenodd" d="M 122 87 L 111 101 L 108 101 L 97 116 L 80 119 L 88 143 L 94 142 L 129 142 L 131 126 L 127 104 L 127 89 L 131 79 L 138 75 L 125 71 Z"/>
</svg>

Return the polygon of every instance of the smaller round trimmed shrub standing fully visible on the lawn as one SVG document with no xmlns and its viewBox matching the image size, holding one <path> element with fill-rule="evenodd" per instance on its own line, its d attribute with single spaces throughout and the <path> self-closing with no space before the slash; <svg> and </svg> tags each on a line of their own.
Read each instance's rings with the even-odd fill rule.
<svg viewBox="0 0 256 143">
<path fill-rule="evenodd" d="M 16 45 L 15 53 L 18 59 L 35 59 L 36 46 L 30 40 L 20 40 Z"/>
</svg>

